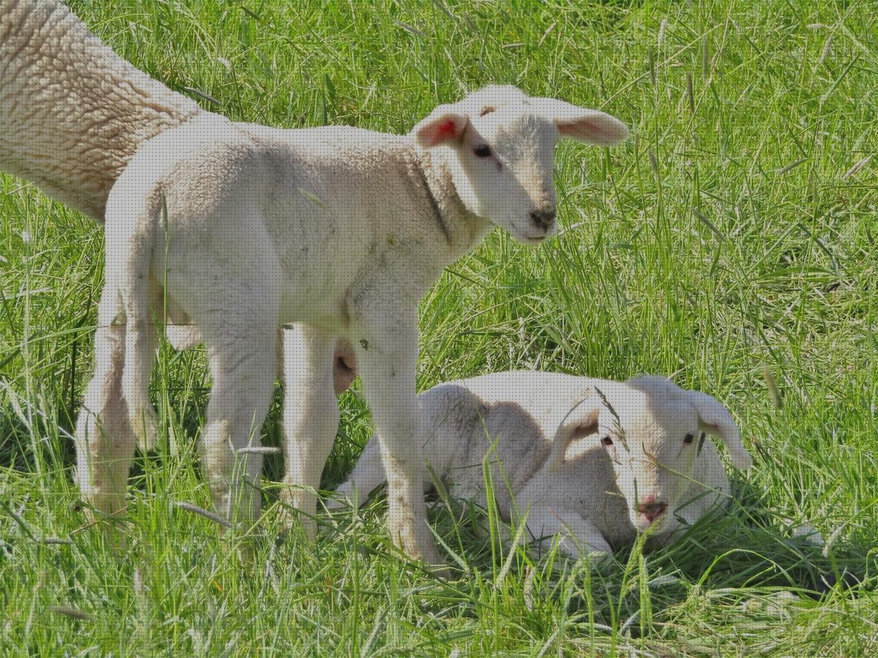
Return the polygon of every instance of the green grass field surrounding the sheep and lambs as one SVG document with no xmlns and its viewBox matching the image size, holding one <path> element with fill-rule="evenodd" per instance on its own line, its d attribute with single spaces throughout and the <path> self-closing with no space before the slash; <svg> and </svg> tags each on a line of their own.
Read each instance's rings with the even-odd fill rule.
<svg viewBox="0 0 878 658">
<path fill-rule="evenodd" d="M 103 232 L 0 176 L 0 655 L 878 654 L 874 4 L 70 4 L 234 119 L 407 132 L 487 82 L 622 118 L 623 147 L 558 148 L 556 240 L 494 232 L 435 284 L 419 387 L 508 368 L 672 375 L 729 406 L 756 466 L 734 476 L 728 517 L 597 571 L 435 504 L 456 574 L 443 581 L 393 554 L 380 500 L 245 563 L 234 536 L 175 506 L 209 506 L 195 440 L 210 383 L 202 352 L 163 345 L 166 440 L 138 455 L 114 554 L 83 527 L 69 434 Z M 341 404 L 327 489 L 371 433 L 356 386 Z M 275 408 L 266 444 L 278 423 Z M 280 468 L 268 460 L 263 483 L 270 537 Z M 802 523 L 823 547 L 794 536 Z M 814 591 L 845 569 L 863 584 Z"/>
</svg>

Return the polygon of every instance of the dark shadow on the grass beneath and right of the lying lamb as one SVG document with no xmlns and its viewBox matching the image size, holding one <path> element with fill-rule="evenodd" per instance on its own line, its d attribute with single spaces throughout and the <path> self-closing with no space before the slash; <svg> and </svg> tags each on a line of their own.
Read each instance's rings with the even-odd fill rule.
<svg viewBox="0 0 878 658">
<path fill-rule="evenodd" d="M 463 573 L 458 571 L 463 590 L 473 587 L 472 572 L 481 575 L 476 580 L 491 582 L 508 569 L 529 605 L 566 601 L 572 618 L 589 619 L 590 624 L 631 637 L 649 633 L 652 621 L 673 617 L 675 606 L 700 593 L 719 592 L 745 604 L 778 593 L 817 599 L 836 586 L 857 596 L 861 587 L 874 584 L 865 577 L 874 570 L 869 547 L 848 542 L 824 554 L 819 535 L 797 536 L 795 526 L 762 504 L 756 487 L 738 482 L 735 495 L 728 511 L 700 519 L 671 545 L 644 548 L 645 542 L 638 540 L 634 546 L 617 547 L 612 561 L 592 569 L 582 562 L 555 559 L 551 553 L 541 556 L 533 547 L 529 552 L 518 549 L 510 557 L 509 542 L 496 540 L 486 527 L 485 510 L 455 500 L 449 506 L 434 498 L 430 523 L 446 544 L 445 555 L 448 549 L 455 553 L 449 560 L 452 569 L 456 560 L 466 565 Z M 361 513 L 383 521 L 383 497 Z M 649 621 L 641 625 L 644 617 Z"/>
</svg>

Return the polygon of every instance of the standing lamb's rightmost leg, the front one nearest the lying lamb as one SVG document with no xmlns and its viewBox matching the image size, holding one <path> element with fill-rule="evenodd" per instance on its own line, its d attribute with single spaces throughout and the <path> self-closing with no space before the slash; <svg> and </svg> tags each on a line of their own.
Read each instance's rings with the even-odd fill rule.
<svg viewBox="0 0 878 658">
<path fill-rule="evenodd" d="M 418 336 L 414 312 L 371 309 L 374 323 L 355 327 L 363 392 L 381 442 L 387 476 L 387 526 L 392 541 L 413 559 L 441 564 L 427 525 L 422 480 L 423 428 L 414 390 Z"/>
</svg>

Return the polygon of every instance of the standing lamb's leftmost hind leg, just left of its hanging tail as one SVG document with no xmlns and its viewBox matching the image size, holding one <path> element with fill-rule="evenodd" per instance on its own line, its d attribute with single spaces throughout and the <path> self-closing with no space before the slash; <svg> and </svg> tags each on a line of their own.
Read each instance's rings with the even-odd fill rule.
<svg viewBox="0 0 878 658">
<path fill-rule="evenodd" d="M 95 372 L 76 419 L 76 480 L 85 501 L 102 514 L 119 512 L 125 506 L 136 443 L 122 396 L 125 333 L 119 295 L 104 286 L 97 306 Z M 87 513 L 94 518 L 91 511 Z"/>
</svg>

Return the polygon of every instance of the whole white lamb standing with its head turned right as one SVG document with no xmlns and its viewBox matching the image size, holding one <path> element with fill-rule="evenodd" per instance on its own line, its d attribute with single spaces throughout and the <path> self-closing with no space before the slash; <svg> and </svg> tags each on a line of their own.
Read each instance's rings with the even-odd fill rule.
<svg viewBox="0 0 878 658">
<path fill-rule="evenodd" d="M 627 134 L 603 112 L 490 87 L 440 105 L 407 135 L 203 113 L 144 142 L 107 201 L 97 367 L 76 430 L 83 494 L 104 511 L 122 504 L 132 429 L 152 427 L 153 320 L 167 309 L 207 348 L 214 504 L 254 519 L 259 496 L 245 481 L 261 455 L 247 448 L 273 395 L 279 327 L 298 322 L 283 337 L 287 465 L 304 485 L 294 504 L 306 518 L 316 511 L 339 418 L 330 365 L 347 339 L 384 447 L 391 536 L 438 562 L 418 449 L 418 301 L 493 225 L 531 244 L 554 232 L 558 139 L 609 146 Z"/>
</svg>

